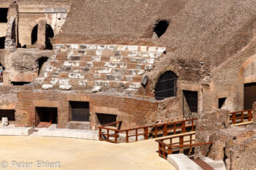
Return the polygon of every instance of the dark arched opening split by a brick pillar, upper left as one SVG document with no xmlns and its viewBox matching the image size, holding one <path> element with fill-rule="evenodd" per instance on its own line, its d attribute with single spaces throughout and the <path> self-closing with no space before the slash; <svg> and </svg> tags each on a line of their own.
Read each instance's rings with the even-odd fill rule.
<svg viewBox="0 0 256 170">
<path fill-rule="evenodd" d="M 38 24 L 37 26 L 34 26 L 31 32 L 31 45 L 37 45 L 37 31 L 38 31 Z M 53 45 L 52 45 L 53 37 L 54 37 L 53 28 L 51 28 L 51 26 L 47 24 L 45 28 L 45 46 L 46 46 L 46 49 L 48 50 L 53 49 Z"/>
</svg>

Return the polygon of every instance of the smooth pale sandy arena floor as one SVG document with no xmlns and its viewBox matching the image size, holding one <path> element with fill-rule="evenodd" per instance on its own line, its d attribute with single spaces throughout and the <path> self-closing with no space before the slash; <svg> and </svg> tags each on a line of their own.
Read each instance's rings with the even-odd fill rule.
<svg viewBox="0 0 256 170">
<path fill-rule="evenodd" d="M 40 161 L 48 161 L 56 163 L 56 169 L 68 170 L 174 169 L 170 163 L 159 157 L 157 150 L 158 144 L 155 139 L 112 144 L 86 139 L 33 135 L 0 136 L 0 169 L 5 163 L 1 161 L 7 161 L 6 169 L 39 169 L 37 161 L 38 166 L 44 166 Z M 28 168 L 25 164 L 19 165 L 18 162 L 28 163 Z M 60 168 L 57 168 L 57 162 Z"/>
</svg>

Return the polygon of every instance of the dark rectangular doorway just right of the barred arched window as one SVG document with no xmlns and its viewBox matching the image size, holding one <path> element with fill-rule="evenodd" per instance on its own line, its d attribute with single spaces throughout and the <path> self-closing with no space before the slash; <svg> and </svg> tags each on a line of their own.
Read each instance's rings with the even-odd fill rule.
<svg viewBox="0 0 256 170">
<path fill-rule="evenodd" d="M 183 90 L 187 104 L 191 112 L 197 112 L 197 91 Z"/>
</svg>

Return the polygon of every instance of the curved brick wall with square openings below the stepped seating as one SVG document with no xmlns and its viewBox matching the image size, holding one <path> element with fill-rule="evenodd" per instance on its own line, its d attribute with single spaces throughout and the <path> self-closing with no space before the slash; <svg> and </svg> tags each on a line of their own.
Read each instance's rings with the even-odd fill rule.
<svg viewBox="0 0 256 170">
<path fill-rule="evenodd" d="M 97 129 L 96 113 L 117 115 L 121 128 L 151 125 L 157 122 L 157 102 L 102 95 L 19 92 L 16 104 L 16 126 L 34 126 L 35 107 L 57 107 L 58 127 L 67 128 L 69 101 L 89 101 L 90 123 Z"/>
</svg>

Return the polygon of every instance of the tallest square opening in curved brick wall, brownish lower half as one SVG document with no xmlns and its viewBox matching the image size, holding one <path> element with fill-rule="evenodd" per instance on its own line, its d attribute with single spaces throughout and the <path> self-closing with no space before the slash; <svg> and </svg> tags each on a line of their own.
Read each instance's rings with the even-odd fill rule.
<svg viewBox="0 0 256 170">
<path fill-rule="evenodd" d="M 90 109 L 89 102 L 86 101 L 69 101 L 71 109 L 72 121 L 86 121 L 89 122 Z"/>
</svg>

